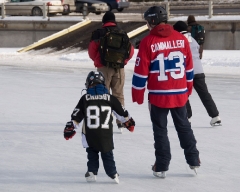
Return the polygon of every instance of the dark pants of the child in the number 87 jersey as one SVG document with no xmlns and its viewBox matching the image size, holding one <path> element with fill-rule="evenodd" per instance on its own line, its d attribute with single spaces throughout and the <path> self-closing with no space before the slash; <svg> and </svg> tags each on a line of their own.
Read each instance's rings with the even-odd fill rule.
<svg viewBox="0 0 240 192">
<path fill-rule="evenodd" d="M 97 151 L 91 147 L 88 147 L 86 149 L 86 152 L 88 153 L 88 172 L 98 172 L 99 168 L 99 155 L 98 153 L 100 151 Z M 115 166 L 115 161 L 113 157 L 113 152 L 109 151 L 107 153 L 101 153 L 102 161 L 103 161 L 103 167 L 105 169 L 106 174 L 109 177 L 112 177 L 117 173 L 116 166 Z"/>
</svg>

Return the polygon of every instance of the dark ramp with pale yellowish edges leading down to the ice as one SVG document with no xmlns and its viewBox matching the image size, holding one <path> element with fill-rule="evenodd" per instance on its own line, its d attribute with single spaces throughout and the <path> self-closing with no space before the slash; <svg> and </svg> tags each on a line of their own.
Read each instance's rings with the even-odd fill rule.
<svg viewBox="0 0 240 192">
<path fill-rule="evenodd" d="M 118 22 L 119 28 L 125 30 L 133 45 L 135 41 L 139 41 L 136 37 L 147 30 L 145 22 Z M 18 52 L 26 52 L 29 50 L 40 50 L 52 48 L 56 51 L 63 49 L 79 48 L 86 50 L 92 35 L 92 32 L 102 27 L 101 22 L 85 21 L 74 26 L 64 29 L 49 37 L 39 40 L 38 42 L 20 49 Z"/>
</svg>

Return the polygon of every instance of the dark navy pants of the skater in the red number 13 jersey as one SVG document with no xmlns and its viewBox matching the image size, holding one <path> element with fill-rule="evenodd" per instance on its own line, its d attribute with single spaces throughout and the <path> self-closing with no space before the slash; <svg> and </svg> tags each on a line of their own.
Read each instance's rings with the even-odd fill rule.
<svg viewBox="0 0 240 192">
<path fill-rule="evenodd" d="M 171 112 L 180 145 L 184 149 L 186 161 L 191 166 L 199 166 L 199 152 L 196 140 L 187 119 L 186 107 L 160 108 L 151 105 L 150 116 L 155 140 L 156 172 L 167 171 L 170 160 L 170 143 L 167 130 L 167 116 Z"/>
</svg>

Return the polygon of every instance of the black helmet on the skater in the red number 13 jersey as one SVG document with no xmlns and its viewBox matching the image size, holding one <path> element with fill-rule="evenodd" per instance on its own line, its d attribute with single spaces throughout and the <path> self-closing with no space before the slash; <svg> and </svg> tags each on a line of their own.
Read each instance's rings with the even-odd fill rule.
<svg viewBox="0 0 240 192">
<path fill-rule="evenodd" d="M 158 25 L 159 23 L 165 22 L 167 23 L 167 11 L 161 6 L 153 6 L 150 7 L 144 13 L 144 19 L 150 25 Z"/>
</svg>

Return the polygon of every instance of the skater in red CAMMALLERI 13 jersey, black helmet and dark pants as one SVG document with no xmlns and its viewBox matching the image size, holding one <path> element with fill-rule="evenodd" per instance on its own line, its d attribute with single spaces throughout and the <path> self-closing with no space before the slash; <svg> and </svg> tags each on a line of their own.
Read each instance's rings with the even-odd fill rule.
<svg viewBox="0 0 240 192">
<path fill-rule="evenodd" d="M 193 61 L 187 39 L 167 24 L 167 11 L 161 6 L 144 13 L 150 33 L 139 46 L 132 78 L 132 101 L 143 104 L 147 84 L 152 121 L 155 163 L 153 175 L 166 177 L 171 161 L 168 114 L 178 134 L 190 169 L 200 167 L 196 139 L 187 119 L 186 102 L 192 93 Z"/>
</svg>

